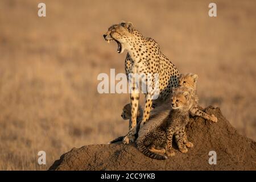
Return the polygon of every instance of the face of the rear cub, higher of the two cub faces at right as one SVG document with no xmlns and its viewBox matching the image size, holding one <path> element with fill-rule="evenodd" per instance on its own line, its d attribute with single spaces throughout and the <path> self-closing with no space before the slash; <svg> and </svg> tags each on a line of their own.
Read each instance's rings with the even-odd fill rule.
<svg viewBox="0 0 256 182">
<path fill-rule="evenodd" d="M 179 86 L 196 89 L 197 78 L 198 76 L 193 73 L 181 74 L 179 78 Z"/>
</svg>

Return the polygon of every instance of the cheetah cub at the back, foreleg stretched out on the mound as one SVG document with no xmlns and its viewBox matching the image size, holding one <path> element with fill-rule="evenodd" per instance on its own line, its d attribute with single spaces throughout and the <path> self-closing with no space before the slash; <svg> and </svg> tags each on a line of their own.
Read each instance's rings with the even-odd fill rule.
<svg viewBox="0 0 256 182">
<path fill-rule="evenodd" d="M 175 92 L 177 90 L 187 90 L 188 88 L 192 89 L 191 94 L 191 109 L 189 109 L 189 113 L 193 115 L 197 115 L 199 117 L 203 117 L 208 119 L 212 122 L 217 122 L 217 118 L 212 114 L 209 115 L 204 111 L 198 109 L 198 101 L 199 98 L 197 97 L 196 90 L 197 90 L 197 78 L 198 76 L 193 73 L 185 73 L 181 74 L 179 77 L 179 86 L 177 88 L 173 88 L 172 90 Z"/>
</svg>

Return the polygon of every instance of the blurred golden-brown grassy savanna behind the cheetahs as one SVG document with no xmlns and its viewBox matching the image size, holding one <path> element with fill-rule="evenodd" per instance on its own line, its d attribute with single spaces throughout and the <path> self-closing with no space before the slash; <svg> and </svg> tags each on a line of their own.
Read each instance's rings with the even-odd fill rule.
<svg viewBox="0 0 256 182">
<path fill-rule="evenodd" d="M 126 53 L 102 35 L 121 20 L 154 38 L 180 72 L 199 75 L 200 105 L 219 106 L 256 140 L 256 2 L 0 1 L 0 169 L 47 169 L 72 147 L 128 131 L 129 94 L 99 94 L 99 73 L 124 73 Z M 142 104 L 142 103 L 141 103 Z M 37 163 L 46 151 L 47 165 Z"/>
</svg>

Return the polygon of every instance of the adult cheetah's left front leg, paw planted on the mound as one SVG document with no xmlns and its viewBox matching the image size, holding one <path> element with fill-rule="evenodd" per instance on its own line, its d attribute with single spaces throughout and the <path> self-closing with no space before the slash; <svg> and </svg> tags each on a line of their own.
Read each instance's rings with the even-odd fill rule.
<svg viewBox="0 0 256 182">
<path fill-rule="evenodd" d="M 134 88 L 133 88 L 134 90 Z M 131 123 L 129 126 L 129 133 L 123 138 L 123 144 L 134 142 L 137 129 L 137 111 L 139 105 L 139 93 L 131 93 Z"/>
</svg>

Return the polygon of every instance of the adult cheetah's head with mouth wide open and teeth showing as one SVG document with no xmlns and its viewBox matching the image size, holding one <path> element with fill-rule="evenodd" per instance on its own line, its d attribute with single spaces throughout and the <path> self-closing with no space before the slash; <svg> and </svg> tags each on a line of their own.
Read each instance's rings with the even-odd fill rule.
<svg viewBox="0 0 256 182">
<path fill-rule="evenodd" d="M 117 43 L 117 52 L 122 53 L 127 43 L 130 42 L 133 33 L 133 24 L 130 22 L 114 24 L 109 27 L 109 30 L 104 34 L 104 39 L 109 43 L 115 41 Z"/>
</svg>

